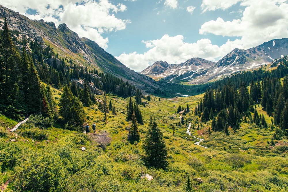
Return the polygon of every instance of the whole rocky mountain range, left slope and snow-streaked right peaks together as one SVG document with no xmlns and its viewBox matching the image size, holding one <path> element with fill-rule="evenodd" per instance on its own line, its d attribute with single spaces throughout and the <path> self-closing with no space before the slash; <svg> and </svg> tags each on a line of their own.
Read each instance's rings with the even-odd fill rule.
<svg viewBox="0 0 288 192">
<path fill-rule="evenodd" d="M 163 80 L 170 83 L 184 81 L 188 84 L 202 84 L 239 71 L 258 68 L 288 55 L 288 39 L 274 39 L 247 50 L 235 48 L 218 62 L 202 58 L 191 58 L 181 64 L 157 61 L 141 73 L 137 73 L 107 53 L 96 42 L 86 37 L 79 38 L 78 34 L 71 31 L 66 24 L 56 27 L 53 22 L 30 20 L 0 5 L 0 29 L 3 27 L 4 17 L 7 18 L 9 28 L 14 31 L 15 37 L 26 38 L 27 42 L 38 41 L 43 46 L 49 45 L 66 60 L 73 59 L 79 66 L 111 73 L 146 93 L 170 90 L 172 84 L 167 87 L 163 84 Z M 22 49 L 22 45 L 16 41 L 14 43 Z M 47 62 L 52 62 L 53 59 L 49 58 Z M 151 77 L 162 81 L 154 81 Z"/>
</svg>

